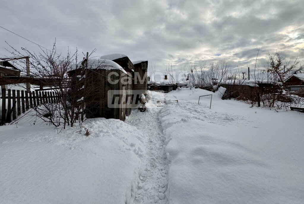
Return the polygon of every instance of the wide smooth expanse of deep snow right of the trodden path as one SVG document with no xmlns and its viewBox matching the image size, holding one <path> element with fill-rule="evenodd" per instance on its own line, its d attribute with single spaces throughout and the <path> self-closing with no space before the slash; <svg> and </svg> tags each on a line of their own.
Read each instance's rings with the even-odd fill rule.
<svg viewBox="0 0 304 204">
<path fill-rule="evenodd" d="M 199 95 L 211 93 L 169 92 L 166 100 L 178 104 L 160 111 L 169 203 L 303 203 L 303 114 L 220 96 L 211 110 L 197 104 Z"/>
</svg>

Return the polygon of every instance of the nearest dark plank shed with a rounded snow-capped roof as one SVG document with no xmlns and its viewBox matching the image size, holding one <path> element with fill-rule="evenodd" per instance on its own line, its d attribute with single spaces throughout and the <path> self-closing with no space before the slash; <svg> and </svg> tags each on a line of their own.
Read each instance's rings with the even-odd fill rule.
<svg viewBox="0 0 304 204">
<path fill-rule="evenodd" d="M 77 83 L 85 81 L 84 89 L 95 90 L 92 96 L 84 98 L 86 117 L 115 118 L 124 121 L 131 113 L 128 96 L 132 94 L 132 75 L 111 60 L 89 59 L 85 76 L 81 76 L 79 74 L 86 64 L 86 59 L 81 64 L 82 67 L 69 71 L 69 76 Z M 79 92 L 80 98 L 81 95 L 85 95 L 82 91 Z"/>
</svg>

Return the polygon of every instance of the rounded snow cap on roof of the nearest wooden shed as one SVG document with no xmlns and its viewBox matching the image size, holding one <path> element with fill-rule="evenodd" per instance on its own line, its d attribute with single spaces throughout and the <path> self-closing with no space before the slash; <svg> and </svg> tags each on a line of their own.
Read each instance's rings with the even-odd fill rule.
<svg viewBox="0 0 304 204">
<path fill-rule="evenodd" d="M 123 67 L 116 62 L 104 59 L 88 59 L 88 69 L 120 70 L 123 73 L 127 73 Z"/>
</svg>

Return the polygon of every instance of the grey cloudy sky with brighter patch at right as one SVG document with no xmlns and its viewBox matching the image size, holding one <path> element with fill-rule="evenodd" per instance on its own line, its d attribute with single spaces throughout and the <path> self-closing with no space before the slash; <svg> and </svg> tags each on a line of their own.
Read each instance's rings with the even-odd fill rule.
<svg viewBox="0 0 304 204">
<path fill-rule="evenodd" d="M 97 49 L 126 54 L 160 72 L 172 62 L 228 60 L 232 68 L 264 67 L 268 52 L 304 59 L 303 0 L 86 0 L 2 1 L 0 26 L 57 53 Z M 0 28 L 0 55 L 39 47 Z M 247 65 L 248 64 L 248 65 Z"/>
</svg>

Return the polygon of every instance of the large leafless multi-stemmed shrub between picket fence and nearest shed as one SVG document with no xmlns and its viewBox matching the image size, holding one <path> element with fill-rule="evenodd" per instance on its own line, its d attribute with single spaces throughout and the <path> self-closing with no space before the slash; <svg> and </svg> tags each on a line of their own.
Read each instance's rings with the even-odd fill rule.
<svg viewBox="0 0 304 204">
<path fill-rule="evenodd" d="M 40 118 L 57 128 L 65 128 L 66 125 L 73 127 L 76 121 L 82 123 L 85 120 L 84 115 L 88 114 L 86 106 L 97 106 L 98 94 L 96 93 L 103 88 L 96 77 L 87 79 L 87 70 L 91 69 L 94 72 L 94 69 L 102 68 L 102 65 L 92 68 L 90 67 L 92 65 L 88 64 L 88 59 L 96 49 L 84 55 L 81 61 L 78 60 L 78 50 L 72 54 L 68 51 L 65 56 L 57 54 L 56 42 L 52 50 L 41 49 L 39 54 L 26 48 L 21 49 L 31 57 L 31 76 L 51 87 L 60 99 L 57 103 L 41 101 L 42 103 L 33 107 L 34 111 L 28 113 L 27 116 L 33 117 L 34 123 L 35 118 Z M 12 54 L 22 55 L 16 49 Z M 68 72 L 71 70 L 77 71 L 72 72 L 70 75 L 73 77 L 70 78 Z M 87 86 L 88 84 L 90 86 Z M 36 94 L 39 92 L 37 91 Z"/>
</svg>

